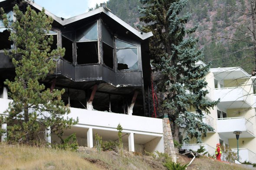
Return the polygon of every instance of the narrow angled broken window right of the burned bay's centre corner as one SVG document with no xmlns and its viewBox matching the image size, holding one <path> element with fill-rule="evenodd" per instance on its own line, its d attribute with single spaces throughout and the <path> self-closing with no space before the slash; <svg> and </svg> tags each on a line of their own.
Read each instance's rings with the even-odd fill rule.
<svg viewBox="0 0 256 170">
<path fill-rule="evenodd" d="M 103 50 L 103 64 L 113 68 L 113 37 L 111 33 L 105 28 L 105 25 L 102 24 L 102 50 Z"/>
</svg>

